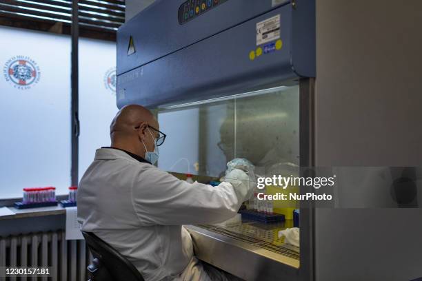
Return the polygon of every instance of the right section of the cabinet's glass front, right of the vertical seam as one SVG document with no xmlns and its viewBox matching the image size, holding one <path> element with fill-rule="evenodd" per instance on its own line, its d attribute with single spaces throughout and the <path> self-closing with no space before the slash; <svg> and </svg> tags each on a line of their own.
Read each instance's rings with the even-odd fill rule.
<svg viewBox="0 0 422 281">
<path fill-rule="evenodd" d="M 237 158 L 254 163 L 261 176 L 286 163 L 299 165 L 299 87 L 236 100 L 234 145 Z"/>
</svg>

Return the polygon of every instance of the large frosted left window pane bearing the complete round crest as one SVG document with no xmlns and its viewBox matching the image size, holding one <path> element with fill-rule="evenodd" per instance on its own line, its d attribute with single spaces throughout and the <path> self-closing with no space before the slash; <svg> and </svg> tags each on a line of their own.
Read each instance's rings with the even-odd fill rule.
<svg viewBox="0 0 422 281">
<path fill-rule="evenodd" d="M 70 185 L 70 37 L 0 27 L 0 198 Z"/>
</svg>

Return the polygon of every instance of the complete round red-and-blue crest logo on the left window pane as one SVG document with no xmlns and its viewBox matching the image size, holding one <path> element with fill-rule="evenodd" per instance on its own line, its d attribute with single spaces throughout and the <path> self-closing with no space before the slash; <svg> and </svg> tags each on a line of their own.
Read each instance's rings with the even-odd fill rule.
<svg viewBox="0 0 422 281">
<path fill-rule="evenodd" d="M 29 56 L 13 56 L 3 66 L 6 81 L 19 90 L 29 90 L 39 82 L 39 66 Z"/>
</svg>

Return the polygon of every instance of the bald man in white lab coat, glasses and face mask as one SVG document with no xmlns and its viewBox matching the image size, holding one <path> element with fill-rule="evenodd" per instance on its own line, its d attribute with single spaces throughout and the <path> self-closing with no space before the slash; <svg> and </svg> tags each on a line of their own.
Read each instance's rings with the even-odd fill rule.
<svg viewBox="0 0 422 281">
<path fill-rule="evenodd" d="M 117 249 L 147 281 L 236 280 L 194 257 L 182 225 L 232 218 L 250 198 L 253 179 L 233 169 L 225 182 L 212 187 L 157 169 L 153 164 L 165 139 L 159 129 L 157 119 L 140 105 L 117 113 L 110 147 L 97 149 L 79 183 L 82 230 Z"/>
</svg>

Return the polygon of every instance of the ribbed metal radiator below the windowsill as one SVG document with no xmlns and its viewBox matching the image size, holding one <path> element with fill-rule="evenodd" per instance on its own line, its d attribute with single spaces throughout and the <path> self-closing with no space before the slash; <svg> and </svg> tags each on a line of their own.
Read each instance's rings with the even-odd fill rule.
<svg viewBox="0 0 422 281">
<path fill-rule="evenodd" d="M 66 240 L 65 231 L 0 238 L 0 267 L 52 269 L 50 277 L 8 278 L 11 281 L 86 281 L 86 267 L 91 261 L 92 256 L 86 248 L 85 240 Z"/>
</svg>

